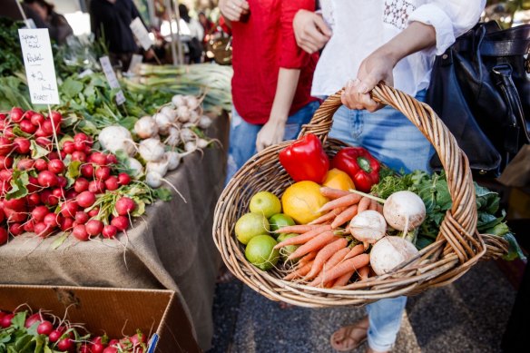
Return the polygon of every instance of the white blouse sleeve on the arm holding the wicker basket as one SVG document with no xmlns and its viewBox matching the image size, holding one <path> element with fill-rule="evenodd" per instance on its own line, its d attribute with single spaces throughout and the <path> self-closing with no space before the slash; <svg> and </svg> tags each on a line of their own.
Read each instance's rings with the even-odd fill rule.
<svg viewBox="0 0 530 353">
<path fill-rule="evenodd" d="M 476 25 L 485 6 L 486 0 L 433 0 L 418 6 L 408 16 L 408 23 L 416 21 L 435 27 L 437 46 L 428 50 L 439 55 L 455 43 L 456 37 Z"/>
</svg>

